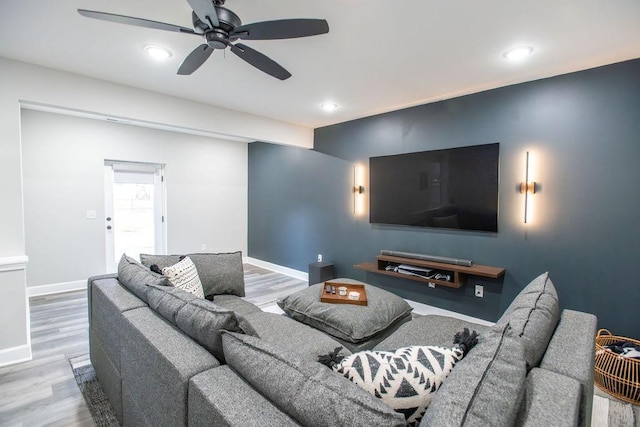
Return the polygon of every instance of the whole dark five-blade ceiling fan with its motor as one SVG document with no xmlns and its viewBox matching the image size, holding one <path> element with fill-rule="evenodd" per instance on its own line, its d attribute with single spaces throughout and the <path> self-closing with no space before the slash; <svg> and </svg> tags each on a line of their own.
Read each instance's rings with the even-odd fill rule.
<svg viewBox="0 0 640 427">
<path fill-rule="evenodd" d="M 215 49 L 228 47 L 231 52 L 259 70 L 277 79 L 286 80 L 291 77 L 291 73 L 273 59 L 245 44 L 232 42 L 238 39 L 291 39 L 329 32 L 329 24 L 324 19 L 281 19 L 242 25 L 238 15 L 223 7 L 225 0 L 187 0 L 187 2 L 193 9 L 193 30 L 179 25 L 93 10 L 78 9 L 78 13 L 88 18 L 204 37 L 205 43 L 195 48 L 180 65 L 178 74 L 181 75 L 189 75 L 200 68 Z"/>
</svg>

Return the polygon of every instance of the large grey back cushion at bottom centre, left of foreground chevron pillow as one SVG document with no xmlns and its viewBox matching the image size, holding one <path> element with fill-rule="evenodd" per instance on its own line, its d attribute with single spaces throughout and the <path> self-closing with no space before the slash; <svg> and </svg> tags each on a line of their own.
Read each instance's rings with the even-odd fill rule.
<svg viewBox="0 0 640 427">
<path fill-rule="evenodd" d="M 223 332 L 222 342 L 229 366 L 302 425 L 405 425 L 404 416 L 317 362 L 248 335 Z"/>
</svg>

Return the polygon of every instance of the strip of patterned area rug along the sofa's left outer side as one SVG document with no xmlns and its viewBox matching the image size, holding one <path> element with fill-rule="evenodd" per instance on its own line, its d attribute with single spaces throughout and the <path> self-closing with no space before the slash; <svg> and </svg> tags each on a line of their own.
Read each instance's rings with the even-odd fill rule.
<svg viewBox="0 0 640 427">
<path fill-rule="evenodd" d="M 98 427 L 116 427 L 120 424 L 116 414 L 100 387 L 100 381 L 91 366 L 89 355 L 72 357 L 69 359 L 73 376 L 84 397 L 84 401 L 91 412 L 91 417 Z"/>
</svg>

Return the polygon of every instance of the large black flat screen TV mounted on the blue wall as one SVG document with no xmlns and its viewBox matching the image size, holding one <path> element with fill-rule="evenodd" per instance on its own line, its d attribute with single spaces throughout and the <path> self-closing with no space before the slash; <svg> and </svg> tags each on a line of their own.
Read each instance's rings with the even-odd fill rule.
<svg viewBox="0 0 640 427">
<path fill-rule="evenodd" d="M 369 221 L 498 231 L 500 144 L 369 158 Z"/>
</svg>

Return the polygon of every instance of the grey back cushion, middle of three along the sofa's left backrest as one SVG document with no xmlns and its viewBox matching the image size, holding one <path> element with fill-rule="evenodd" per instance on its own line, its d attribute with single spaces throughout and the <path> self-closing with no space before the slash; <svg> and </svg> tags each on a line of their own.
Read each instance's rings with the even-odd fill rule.
<svg viewBox="0 0 640 427">
<path fill-rule="evenodd" d="M 224 362 L 220 332 L 245 332 L 233 311 L 179 288 L 149 287 L 149 305 L 162 317 Z"/>
</svg>

